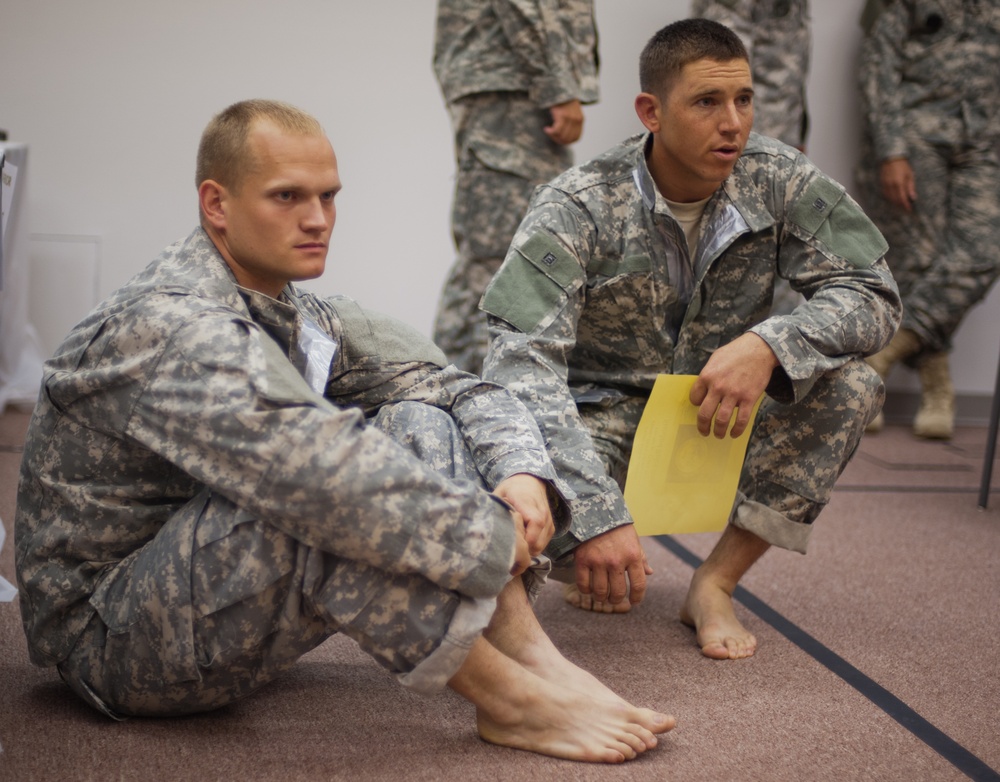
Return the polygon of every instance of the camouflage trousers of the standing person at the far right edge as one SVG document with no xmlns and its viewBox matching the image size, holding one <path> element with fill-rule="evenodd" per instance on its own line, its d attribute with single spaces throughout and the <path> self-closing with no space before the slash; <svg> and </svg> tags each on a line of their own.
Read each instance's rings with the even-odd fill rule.
<svg viewBox="0 0 1000 782">
<path fill-rule="evenodd" d="M 906 143 L 917 184 L 912 212 L 882 198 L 877 165 L 859 169 L 859 184 L 889 242 L 902 328 L 925 348 L 916 363 L 951 348 L 965 314 L 1000 274 L 1000 161 L 991 143 L 932 144 L 915 134 Z"/>
</svg>

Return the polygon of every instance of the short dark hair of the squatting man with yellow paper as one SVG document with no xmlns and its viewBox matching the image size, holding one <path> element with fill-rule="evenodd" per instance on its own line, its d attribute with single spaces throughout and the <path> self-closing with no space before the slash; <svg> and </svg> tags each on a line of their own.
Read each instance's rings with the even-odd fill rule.
<svg viewBox="0 0 1000 782">
<path fill-rule="evenodd" d="M 661 29 L 643 48 L 639 55 L 639 88 L 662 98 L 684 66 L 696 60 L 750 62 L 750 55 L 740 37 L 724 24 L 710 19 L 682 19 Z"/>
</svg>

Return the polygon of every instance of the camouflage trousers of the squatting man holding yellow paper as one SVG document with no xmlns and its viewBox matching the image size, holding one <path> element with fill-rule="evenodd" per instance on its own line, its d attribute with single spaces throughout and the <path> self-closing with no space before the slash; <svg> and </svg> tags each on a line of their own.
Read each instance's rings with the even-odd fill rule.
<svg viewBox="0 0 1000 782">
<path fill-rule="evenodd" d="M 730 523 L 771 545 L 805 552 L 812 522 L 830 500 L 868 422 L 882 409 L 882 381 L 867 363 L 848 361 L 820 377 L 805 399 L 766 398 L 757 413 Z M 615 395 L 580 405 L 608 475 L 624 489 L 645 399 Z M 565 559 L 553 576 L 561 578 Z"/>
</svg>

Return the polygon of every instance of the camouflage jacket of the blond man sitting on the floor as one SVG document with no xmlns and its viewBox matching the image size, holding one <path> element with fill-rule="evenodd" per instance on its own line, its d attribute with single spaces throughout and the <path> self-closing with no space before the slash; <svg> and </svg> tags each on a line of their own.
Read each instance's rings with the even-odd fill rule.
<svg viewBox="0 0 1000 782">
<path fill-rule="evenodd" d="M 326 398 L 301 374 L 303 314 L 335 346 Z M 506 507 L 365 424 L 380 405 L 417 400 L 450 411 L 486 485 L 553 480 L 523 406 L 442 363 L 425 337 L 350 300 L 238 287 L 200 228 L 167 248 L 45 366 L 15 522 L 32 660 L 63 660 L 102 574 L 206 488 L 306 545 L 332 526 L 338 556 L 498 593 L 514 550 Z"/>
</svg>

